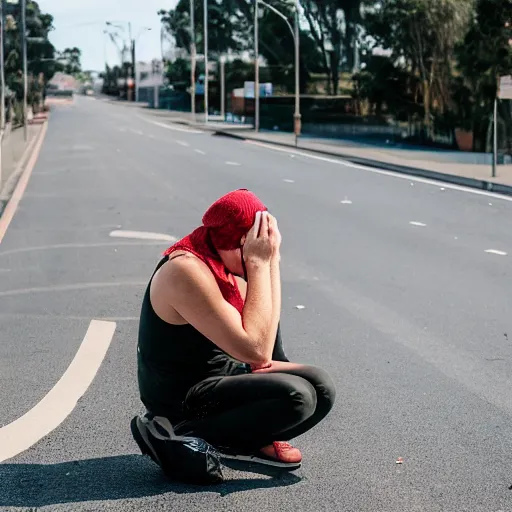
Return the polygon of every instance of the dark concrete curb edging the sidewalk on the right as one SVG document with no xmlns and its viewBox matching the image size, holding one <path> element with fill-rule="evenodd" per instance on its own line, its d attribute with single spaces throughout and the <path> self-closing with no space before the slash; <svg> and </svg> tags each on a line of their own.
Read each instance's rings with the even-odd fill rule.
<svg viewBox="0 0 512 512">
<path fill-rule="evenodd" d="M 512 186 L 504 185 L 501 183 L 493 183 L 492 181 L 479 180 L 476 178 L 466 178 L 464 176 L 457 176 L 456 174 L 445 174 L 442 172 L 430 171 L 427 169 L 421 169 L 419 167 L 408 167 L 406 165 L 395 165 L 387 162 L 380 162 L 378 160 L 371 160 L 369 158 L 360 158 L 352 155 L 345 155 L 342 153 L 335 153 L 333 151 L 320 150 L 320 149 L 312 149 L 312 148 L 304 148 L 300 146 L 295 146 L 294 144 L 288 144 L 286 142 L 276 142 L 269 141 L 265 139 L 258 139 L 252 137 L 244 137 L 241 134 L 224 131 L 224 130 L 214 130 L 214 135 L 218 135 L 221 137 L 230 137 L 232 139 L 238 139 L 242 141 L 248 142 L 261 142 L 263 144 L 270 144 L 272 146 L 281 146 L 287 148 L 293 148 L 300 151 L 308 151 L 310 153 L 316 153 L 320 155 L 328 155 L 337 158 L 341 158 L 343 160 L 347 160 L 354 164 L 364 165 L 366 167 L 374 167 L 378 169 L 384 169 L 386 171 L 392 171 L 400 174 L 408 174 L 409 176 L 417 176 L 420 178 L 427 178 L 436 181 L 442 181 L 444 183 L 451 183 L 454 185 L 461 185 L 469 188 L 476 188 L 480 190 L 486 190 L 487 192 L 496 192 L 498 194 L 512 196 Z"/>
</svg>

